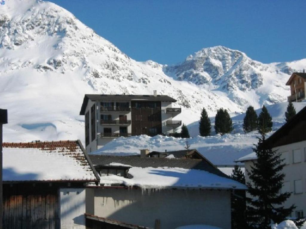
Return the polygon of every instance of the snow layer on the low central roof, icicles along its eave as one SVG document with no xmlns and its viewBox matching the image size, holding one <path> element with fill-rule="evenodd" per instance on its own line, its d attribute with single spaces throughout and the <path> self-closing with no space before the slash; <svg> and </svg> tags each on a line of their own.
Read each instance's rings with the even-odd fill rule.
<svg viewBox="0 0 306 229">
<path fill-rule="evenodd" d="M 123 165 L 110 163 L 110 165 Z M 129 165 L 124 165 L 129 166 Z M 100 176 L 100 184 L 124 184 L 141 188 L 216 188 L 245 189 L 245 185 L 229 178 L 197 169 L 182 169 L 168 167 L 132 167 L 129 169 L 132 178 L 122 176 Z"/>
</svg>

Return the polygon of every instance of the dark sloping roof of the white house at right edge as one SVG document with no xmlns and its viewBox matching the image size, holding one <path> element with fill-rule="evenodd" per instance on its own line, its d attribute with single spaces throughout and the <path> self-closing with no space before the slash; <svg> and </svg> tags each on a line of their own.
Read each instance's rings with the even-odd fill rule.
<svg viewBox="0 0 306 229">
<path fill-rule="evenodd" d="M 306 140 L 306 107 L 267 138 L 263 147 L 278 147 Z"/>
</svg>

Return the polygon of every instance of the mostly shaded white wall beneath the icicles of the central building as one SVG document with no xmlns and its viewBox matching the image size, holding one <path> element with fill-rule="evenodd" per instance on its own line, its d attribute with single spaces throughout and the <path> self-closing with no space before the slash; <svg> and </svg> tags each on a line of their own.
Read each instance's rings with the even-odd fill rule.
<svg viewBox="0 0 306 229">
<path fill-rule="evenodd" d="M 125 223 L 154 228 L 160 220 L 160 229 L 188 224 L 231 228 L 230 191 L 100 187 L 91 195 L 94 206 L 88 212 Z"/>
</svg>

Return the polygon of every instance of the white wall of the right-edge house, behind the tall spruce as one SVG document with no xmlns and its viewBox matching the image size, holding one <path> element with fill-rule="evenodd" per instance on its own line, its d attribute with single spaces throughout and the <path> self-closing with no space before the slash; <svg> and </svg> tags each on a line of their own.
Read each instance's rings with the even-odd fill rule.
<svg viewBox="0 0 306 229">
<path fill-rule="evenodd" d="M 298 212 L 303 211 L 306 215 L 306 141 L 275 147 L 273 150 L 281 153 L 286 164 L 283 168 L 285 179 L 282 191 L 292 192 L 291 196 L 284 203 L 285 207 L 295 204 L 297 208 L 293 210 L 292 217 L 297 217 Z M 253 161 L 245 162 L 245 171 L 251 171 Z M 246 172 L 246 181 L 249 176 Z M 248 195 L 249 196 L 249 195 Z"/>
</svg>

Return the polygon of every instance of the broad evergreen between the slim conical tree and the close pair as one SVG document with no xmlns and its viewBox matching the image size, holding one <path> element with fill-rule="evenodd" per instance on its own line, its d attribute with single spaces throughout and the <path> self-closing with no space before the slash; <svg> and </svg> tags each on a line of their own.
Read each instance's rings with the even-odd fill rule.
<svg viewBox="0 0 306 229">
<path fill-rule="evenodd" d="M 226 109 L 220 108 L 215 117 L 215 131 L 224 135 L 233 130 L 232 119 Z"/>
</svg>

